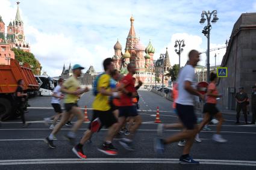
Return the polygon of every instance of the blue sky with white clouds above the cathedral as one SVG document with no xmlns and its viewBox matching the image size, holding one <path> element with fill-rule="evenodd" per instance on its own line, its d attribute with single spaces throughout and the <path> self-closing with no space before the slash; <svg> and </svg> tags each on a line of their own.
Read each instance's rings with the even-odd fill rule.
<svg viewBox="0 0 256 170">
<path fill-rule="evenodd" d="M 93 65 L 102 71 L 104 58 L 114 55 L 113 46 L 119 39 L 124 53 L 130 30 L 130 17 L 140 41 L 155 47 L 154 59 L 168 48 L 170 64 L 178 64 L 175 40 L 184 40 L 181 66 L 190 50 L 207 50 L 207 38 L 202 34 L 206 25 L 199 23 L 202 11 L 217 10 L 219 20 L 212 25 L 210 49 L 225 46 L 234 23 L 242 13 L 256 11 L 254 1 L 167 1 L 167 0 L 20 0 L 20 15 L 24 23 L 26 41 L 31 52 L 49 76 L 60 76 L 66 67 L 81 64 L 86 70 Z M 16 16 L 13 0 L 0 0 L 0 16 L 8 25 Z M 225 48 L 210 53 L 210 65 L 220 64 Z M 205 65 L 205 54 L 200 65 Z M 84 70 L 84 72 L 86 71 Z"/>
</svg>

